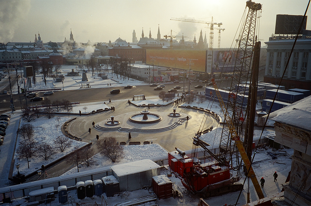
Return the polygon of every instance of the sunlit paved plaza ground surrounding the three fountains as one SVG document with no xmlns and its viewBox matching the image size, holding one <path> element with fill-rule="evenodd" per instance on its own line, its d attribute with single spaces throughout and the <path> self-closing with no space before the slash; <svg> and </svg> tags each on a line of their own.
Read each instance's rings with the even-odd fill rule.
<svg viewBox="0 0 311 206">
<path fill-rule="evenodd" d="M 82 141 L 85 142 L 96 142 L 96 134 L 98 134 L 100 139 L 113 136 L 117 138 L 118 142 L 124 141 L 128 143 L 128 132 L 105 132 L 97 130 L 96 128 L 93 128 L 92 122 L 94 121 L 95 124 L 97 124 L 110 119 L 110 116 L 115 116 L 114 120 L 120 121 L 122 125 L 128 124 L 129 128 L 132 128 L 133 124 L 135 123 L 129 122 L 128 120 L 130 115 L 133 114 L 132 112 L 140 113 L 140 111 L 147 109 L 147 107 L 136 107 L 134 105 L 128 105 L 127 101 L 116 101 L 107 104 L 107 106 L 114 106 L 115 111 L 106 111 L 98 114 L 91 114 L 88 116 L 78 116 L 76 120 L 69 123 L 67 127 L 68 132 L 74 136 L 81 137 Z M 179 125 L 176 128 L 165 132 L 131 132 L 131 141 L 140 141 L 141 143 L 144 141 L 153 141 L 153 143 L 161 145 L 163 148 L 165 148 L 165 150 L 169 152 L 174 151 L 175 147 L 178 147 L 181 150 L 191 150 L 193 146 L 192 137 L 199 130 L 204 113 L 199 110 L 178 108 L 177 105 L 168 105 L 161 107 L 154 106 L 151 107 L 149 111 L 155 114 L 157 114 L 157 112 L 161 113 L 163 120 L 158 123 L 159 125 L 169 125 L 173 123 L 172 118 L 168 119 L 163 114 L 172 113 L 173 109 L 176 109 L 177 113 L 183 113 L 183 116 L 188 115 L 190 117 L 188 123 L 187 121 L 185 121 L 182 123 L 182 125 Z M 209 116 L 203 130 L 210 128 L 212 125 L 215 127 L 217 123 L 216 120 Z M 140 129 L 143 129 L 144 127 L 150 128 L 150 126 L 144 124 L 135 124 L 135 127 Z M 155 127 L 157 128 L 158 126 Z M 91 134 L 89 134 L 88 132 L 89 128 L 92 128 Z"/>
</svg>

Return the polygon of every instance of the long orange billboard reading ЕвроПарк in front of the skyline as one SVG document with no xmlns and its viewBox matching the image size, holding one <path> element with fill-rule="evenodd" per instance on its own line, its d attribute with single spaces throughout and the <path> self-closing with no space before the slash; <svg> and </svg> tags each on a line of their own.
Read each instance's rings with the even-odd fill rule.
<svg viewBox="0 0 311 206">
<path fill-rule="evenodd" d="M 166 50 L 147 49 L 146 64 L 189 70 L 191 59 L 191 70 L 206 72 L 206 50 Z"/>
</svg>

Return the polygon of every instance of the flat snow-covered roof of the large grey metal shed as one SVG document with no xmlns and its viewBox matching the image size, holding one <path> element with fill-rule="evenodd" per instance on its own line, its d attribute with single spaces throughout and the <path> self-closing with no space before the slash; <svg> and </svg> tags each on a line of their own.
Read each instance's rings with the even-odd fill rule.
<svg viewBox="0 0 311 206">
<path fill-rule="evenodd" d="M 160 166 L 150 159 L 118 164 L 111 167 L 114 174 L 118 177 L 156 168 L 160 168 Z"/>
</svg>

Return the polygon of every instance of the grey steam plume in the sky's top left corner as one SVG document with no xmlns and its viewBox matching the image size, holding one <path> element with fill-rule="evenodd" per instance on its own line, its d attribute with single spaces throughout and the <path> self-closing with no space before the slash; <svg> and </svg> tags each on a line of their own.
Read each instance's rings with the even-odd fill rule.
<svg viewBox="0 0 311 206">
<path fill-rule="evenodd" d="M 12 41 L 15 29 L 29 9 L 29 0 L 0 0 L 0 42 Z"/>
</svg>

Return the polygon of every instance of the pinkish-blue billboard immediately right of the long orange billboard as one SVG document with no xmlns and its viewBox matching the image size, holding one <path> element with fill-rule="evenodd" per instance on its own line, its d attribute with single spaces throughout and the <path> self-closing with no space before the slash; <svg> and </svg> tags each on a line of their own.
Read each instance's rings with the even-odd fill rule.
<svg viewBox="0 0 311 206">
<path fill-rule="evenodd" d="M 218 50 L 213 51 L 212 72 L 229 73 L 233 72 L 236 60 L 236 51 Z"/>
</svg>

